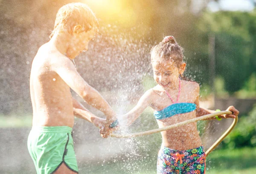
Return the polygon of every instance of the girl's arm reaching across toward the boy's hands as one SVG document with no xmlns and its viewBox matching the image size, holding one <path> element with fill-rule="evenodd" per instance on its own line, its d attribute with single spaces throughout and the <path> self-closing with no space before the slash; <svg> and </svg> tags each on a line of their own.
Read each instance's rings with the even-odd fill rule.
<svg viewBox="0 0 256 174">
<path fill-rule="evenodd" d="M 152 102 L 151 102 L 151 90 L 146 91 L 143 96 L 140 98 L 139 102 L 137 105 L 130 110 L 128 113 L 125 115 L 119 117 L 119 123 L 121 126 L 129 126 L 131 125 L 143 111 L 148 107 Z"/>
</svg>

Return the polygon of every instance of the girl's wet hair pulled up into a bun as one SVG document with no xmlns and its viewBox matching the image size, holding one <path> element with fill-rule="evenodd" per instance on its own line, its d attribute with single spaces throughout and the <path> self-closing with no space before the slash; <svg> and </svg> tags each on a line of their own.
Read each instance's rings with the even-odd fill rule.
<svg viewBox="0 0 256 174">
<path fill-rule="evenodd" d="M 183 52 L 184 49 L 173 36 L 166 36 L 162 42 L 151 48 L 150 54 L 154 54 L 153 58 L 151 56 L 151 61 L 156 58 L 160 61 L 173 61 L 179 67 L 183 62 Z"/>
</svg>

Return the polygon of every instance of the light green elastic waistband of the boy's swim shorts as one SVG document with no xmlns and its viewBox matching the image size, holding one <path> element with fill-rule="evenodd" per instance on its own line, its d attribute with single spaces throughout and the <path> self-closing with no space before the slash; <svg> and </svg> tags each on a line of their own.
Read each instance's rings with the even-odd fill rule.
<svg viewBox="0 0 256 174">
<path fill-rule="evenodd" d="M 32 127 L 31 131 L 38 133 L 72 133 L 68 126 L 38 126 Z"/>
</svg>

